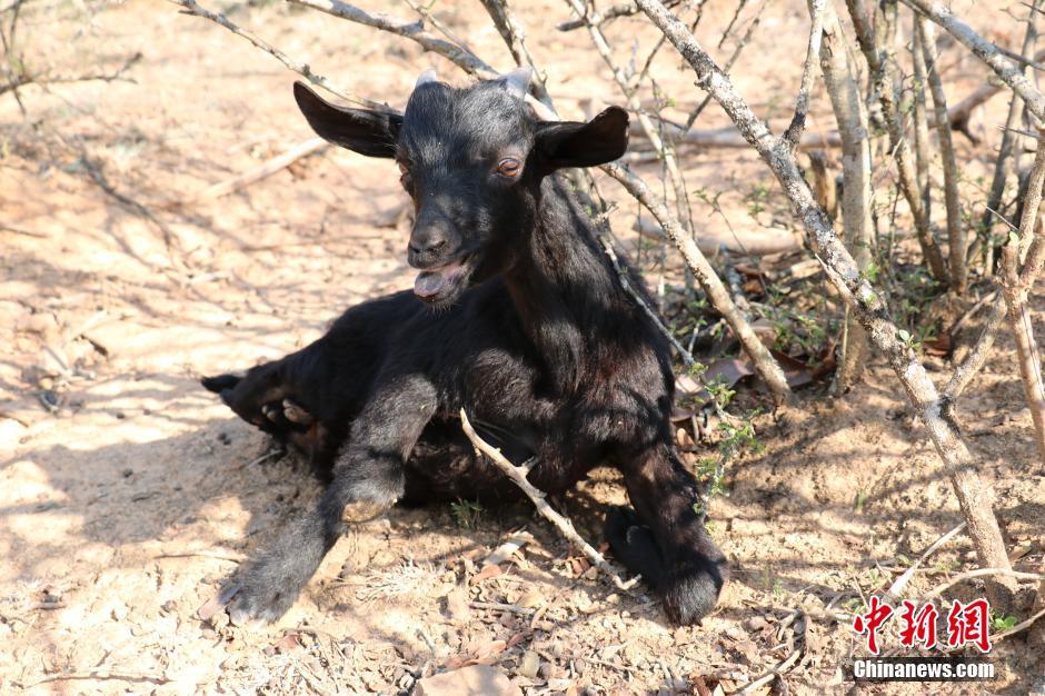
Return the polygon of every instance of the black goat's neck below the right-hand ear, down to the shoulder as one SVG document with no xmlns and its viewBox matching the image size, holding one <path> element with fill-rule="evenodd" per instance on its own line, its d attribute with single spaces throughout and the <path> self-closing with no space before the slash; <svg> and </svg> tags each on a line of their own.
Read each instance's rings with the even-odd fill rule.
<svg viewBox="0 0 1045 696">
<path fill-rule="evenodd" d="M 585 384 L 599 356 L 629 340 L 634 305 L 584 206 L 558 177 L 543 182 L 533 235 L 505 280 L 559 390 Z"/>
</svg>

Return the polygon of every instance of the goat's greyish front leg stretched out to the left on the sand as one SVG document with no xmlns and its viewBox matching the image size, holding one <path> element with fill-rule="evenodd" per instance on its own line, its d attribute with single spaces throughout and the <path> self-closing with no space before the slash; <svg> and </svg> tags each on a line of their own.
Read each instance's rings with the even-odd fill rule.
<svg viewBox="0 0 1045 696">
<path fill-rule="evenodd" d="M 222 599 L 233 623 L 272 622 L 295 603 L 347 524 L 365 521 L 402 495 L 404 465 L 436 411 L 436 390 L 419 375 L 381 379 L 352 424 L 334 481 L 316 508 L 282 531 Z"/>
</svg>

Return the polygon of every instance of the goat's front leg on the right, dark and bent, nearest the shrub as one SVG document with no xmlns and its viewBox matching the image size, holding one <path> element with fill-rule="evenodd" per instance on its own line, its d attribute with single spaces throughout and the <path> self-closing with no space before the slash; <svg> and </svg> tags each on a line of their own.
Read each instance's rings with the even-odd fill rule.
<svg viewBox="0 0 1045 696">
<path fill-rule="evenodd" d="M 667 445 L 621 469 L 635 511 L 611 510 L 606 539 L 653 585 L 673 622 L 695 624 L 715 608 L 726 578 L 726 558 L 704 526 L 697 480 Z"/>
</svg>

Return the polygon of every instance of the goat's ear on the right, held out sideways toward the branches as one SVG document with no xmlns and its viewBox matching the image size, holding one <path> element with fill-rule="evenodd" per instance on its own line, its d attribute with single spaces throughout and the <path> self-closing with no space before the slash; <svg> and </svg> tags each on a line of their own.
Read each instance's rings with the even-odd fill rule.
<svg viewBox="0 0 1045 696">
<path fill-rule="evenodd" d="M 594 167 L 619 158 L 628 149 L 628 112 L 610 107 L 587 123 L 545 123 L 535 150 L 549 170 Z"/>
</svg>

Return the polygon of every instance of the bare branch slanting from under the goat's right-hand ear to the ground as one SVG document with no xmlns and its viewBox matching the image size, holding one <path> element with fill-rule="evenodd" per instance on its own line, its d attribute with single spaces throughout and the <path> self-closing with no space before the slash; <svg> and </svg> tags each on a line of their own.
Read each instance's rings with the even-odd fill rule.
<svg viewBox="0 0 1045 696">
<path fill-rule="evenodd" d="M 649 192 L 649 187 L 637 175 L 627 167 L 620 165 L 604 165 L 603 171 L 616 179 L 636 200 L 638 200 L 649 212 L 657 218 L 657 222 L 664 228 L 667 236 L 683 255 L 686 266 L 689 267 L 694 278 L 704 288 L 708 300 L 718 314 L 720 314 L 733 331 L 737 335 L 745 352 L 750 356 L 755 364 L 755 370 L 763 378 L 769 390 L 778 400 L 785 400 L 790 395 L 790 388 L 787 386 L 787 379 L 780 366 L 769 354 L 769 349 L 762 342 L 752 325 L 743 317 L 729 291 L 723 285 L 715 269 L 708 262 L 707 258 L 697 247 L 693 237 L 686 235 L 681 226 L 671 216 L 667 207 Z"/>
</svg>

